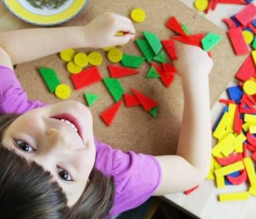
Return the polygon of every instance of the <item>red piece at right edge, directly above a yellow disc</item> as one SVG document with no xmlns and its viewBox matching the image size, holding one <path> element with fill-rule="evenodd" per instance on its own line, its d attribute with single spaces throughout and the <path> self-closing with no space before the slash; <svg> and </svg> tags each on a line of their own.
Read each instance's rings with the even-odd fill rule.
<svg viewBox="0 0 256 219">
<path fill-rule="evenodd" d="M 255 63 L 252 59 L 251 55 L 248 55 L 244 64 L 240 67 L 238 72 L 236 73 L 236 77 L 239 80 L 246 81 L 249 80 L 256 73 Z"/>
</svg>

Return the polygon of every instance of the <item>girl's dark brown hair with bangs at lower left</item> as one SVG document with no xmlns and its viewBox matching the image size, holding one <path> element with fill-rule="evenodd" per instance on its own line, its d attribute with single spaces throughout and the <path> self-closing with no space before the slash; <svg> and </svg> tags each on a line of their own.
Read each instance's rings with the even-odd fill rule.
<svg viewBox="0 0 256 219">
<path fill-rule="evenodd" d="M 0 139 L 18 114 L 0 114 Z M 80 199 L 67 207 L 67 198 L 50 172 L 35 162 L 27 162 L 0 144 L 0 218 L 103 219 L 113 206 L 113 177 L 105 177 L 95 167 L 90 183 Z"/>
</svg>

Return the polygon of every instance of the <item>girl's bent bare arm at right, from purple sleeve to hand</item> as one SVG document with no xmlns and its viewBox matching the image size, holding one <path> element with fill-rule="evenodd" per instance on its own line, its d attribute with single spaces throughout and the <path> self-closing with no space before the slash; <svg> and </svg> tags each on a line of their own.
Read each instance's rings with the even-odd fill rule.
<svg viewBox="0 0 256 219">
<path fill-rule="evenodd" d="M 200 47 L 184 45 L 176 69 L 184 90 L 184 115 L 177 155 L 157 156 L 162 181 L 154 196 L 186 191 L 201 183 L 211 164 L 211 111 L 208 73 L 211 58 Z"/>
</svg>

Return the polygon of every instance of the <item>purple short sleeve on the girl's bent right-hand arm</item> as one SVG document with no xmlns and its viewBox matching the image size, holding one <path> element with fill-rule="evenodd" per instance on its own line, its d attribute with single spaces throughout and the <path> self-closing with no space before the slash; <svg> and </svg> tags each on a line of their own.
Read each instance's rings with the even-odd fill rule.
<svg viewBox="0 0 256 219">
<path fill-rule="evenodd" d="M 111 174 L 116 198 L 110 215 L 138 207 L 157 190 L 162 179 L 159 162 L 152 155 L 114 150 Z"/>
</svg>

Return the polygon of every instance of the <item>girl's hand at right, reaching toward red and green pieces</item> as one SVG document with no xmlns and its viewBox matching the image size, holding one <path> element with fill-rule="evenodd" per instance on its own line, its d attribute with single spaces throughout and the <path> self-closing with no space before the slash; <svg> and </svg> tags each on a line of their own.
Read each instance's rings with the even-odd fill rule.
<svg viewBox="0 0 256 219">
<path fill-rule="evenodd" d="M 208 53 L 200 47 L 181 45 L 178 48 L 178 59 L 174 61 L 178 74 L 182 77 L 208 76 L 213 61 Z"/>
</svg>

